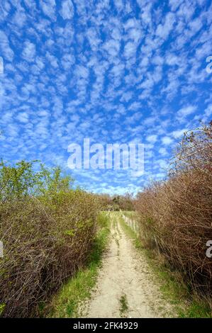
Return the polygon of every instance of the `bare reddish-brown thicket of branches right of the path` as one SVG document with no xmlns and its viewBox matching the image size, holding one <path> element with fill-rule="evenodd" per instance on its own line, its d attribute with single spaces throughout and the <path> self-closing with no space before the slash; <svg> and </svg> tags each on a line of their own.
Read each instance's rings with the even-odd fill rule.
<svg viewBox="0 0 212 333">
<path fill-rule="evenodd" d="M 167 180 L 138 194 L 140 237 L 164 254 L 191 288 L 212 294 L 212 126 L 184 134 Z"/>
</svg>

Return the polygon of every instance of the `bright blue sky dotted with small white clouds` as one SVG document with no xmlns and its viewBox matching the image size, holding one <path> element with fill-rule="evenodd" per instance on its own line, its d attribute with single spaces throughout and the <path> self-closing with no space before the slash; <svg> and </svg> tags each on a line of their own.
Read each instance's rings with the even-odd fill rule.
<svg viewBox="0 0 212 333">
<path fill-rule="evenodd" d="M 67 169 L 72 142 L 145 144 L 145 173 L 74 170 L 89 191 L 163 179 L 185 130 L 211 120 L 207 0 L 1 0 L 0 157 Z"/>
</svg>

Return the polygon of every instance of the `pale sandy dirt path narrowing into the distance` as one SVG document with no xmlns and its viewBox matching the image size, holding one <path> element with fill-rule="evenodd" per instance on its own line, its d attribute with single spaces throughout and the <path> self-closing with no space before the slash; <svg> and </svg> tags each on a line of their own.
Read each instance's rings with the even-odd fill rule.
<svg viewBox="0 0 212 333">
<path fill-rule="evenodd" d="M 111 239 L 96 290 L 82 317 L 167 317 L 167 305 L 148 264 L 111 213 Z"/>
</svg>

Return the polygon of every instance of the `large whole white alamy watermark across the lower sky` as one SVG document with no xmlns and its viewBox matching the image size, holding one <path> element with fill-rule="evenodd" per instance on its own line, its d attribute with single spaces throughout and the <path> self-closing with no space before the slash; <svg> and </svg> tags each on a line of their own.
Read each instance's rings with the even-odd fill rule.
<svg viewBox="0 0 212 333">
<path fill-rule="evenodd" d="M 67 161 L 69 169 L 131 169 L 144 171 L 144 145 L 141 143 L 94 143 L 84 138 L 83 147 L 77 143 L 68 146 L 71 154 Z"/>
</svg>

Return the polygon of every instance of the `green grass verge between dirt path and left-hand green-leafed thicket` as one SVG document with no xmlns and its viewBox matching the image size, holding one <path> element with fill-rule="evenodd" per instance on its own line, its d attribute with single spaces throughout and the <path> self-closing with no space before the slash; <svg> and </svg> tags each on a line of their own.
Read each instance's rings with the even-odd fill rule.
<svg viewBox="0 0 212 333">
<path fill-rule="evenodd" d="M 106 213 L 99 215 L 98 225 L 99 231 L 94 239 L 87 265 L 62 286 L 53 298 L 46 317 L 76 318 L 82 315 L 83 309 L 80 305 L 91 296 L 110 233 L 109 218 Z"/>
</svg>

